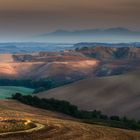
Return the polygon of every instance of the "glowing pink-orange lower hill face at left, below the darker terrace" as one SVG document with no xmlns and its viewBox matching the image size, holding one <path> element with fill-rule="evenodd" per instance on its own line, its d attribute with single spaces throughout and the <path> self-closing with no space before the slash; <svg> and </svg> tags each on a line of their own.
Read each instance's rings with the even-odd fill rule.
<svg viewBox="0 0 140 140">
<path fill-rule="evenodd" d="M 1 78 L 38 79 L 47 77 L 78 78 L 93 74 L 97 60 L 79 60 L 70 62 L 1 62 Z M 76 78 L 75 77 L 75 78 Z"/>
</svg>

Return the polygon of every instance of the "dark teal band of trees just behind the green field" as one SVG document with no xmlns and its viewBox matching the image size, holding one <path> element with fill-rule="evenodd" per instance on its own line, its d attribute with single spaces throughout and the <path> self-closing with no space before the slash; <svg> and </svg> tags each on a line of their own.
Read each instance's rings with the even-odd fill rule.
<svg viewBox="0 0 140 140">
<path fill-rule="evenodd" d="M 0 79 L 0 86 L 23 86 L 35 89 L 34 93 L 59 87 L 70 82 L 57 82 L 51 78 L 31 80 L 31 79 Z"/>
</svg>

